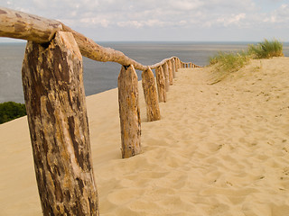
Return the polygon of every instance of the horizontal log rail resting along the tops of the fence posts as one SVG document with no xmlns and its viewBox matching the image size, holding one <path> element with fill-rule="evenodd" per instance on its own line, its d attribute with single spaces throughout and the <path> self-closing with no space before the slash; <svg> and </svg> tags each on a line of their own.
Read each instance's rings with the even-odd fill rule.
<svg viewBox="0 0 289 216">
<path fill-rule="evenodd" d="M 123 66 L 133 65 L 135 69 L 139 70 L 146 70 L 149 67 L 126 57 L 121 51 L 98 45 L 95 41 L 70 29 L 70 27 L 59 21 L 0 7 L 0 37 L 48 43 L 54 38 L 57 31 L 70 31 L 84 57 L 102 62 L 117 62 Z M 163 59 L 162 62 L 151 66 L 151 68 L 154 69 L 159 65 L 163 65 L 162 63 L 168 59 L 171 58 Z"/>
</svg>

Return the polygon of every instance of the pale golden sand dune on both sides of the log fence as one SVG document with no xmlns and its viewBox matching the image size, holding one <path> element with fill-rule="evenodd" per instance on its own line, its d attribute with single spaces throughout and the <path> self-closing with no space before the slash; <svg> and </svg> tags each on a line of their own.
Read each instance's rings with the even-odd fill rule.
<svg viewBox="0 0 289 216">
<path fill-rule="evenodd" d="M 117 89 L 89 96 L 101 215 L 289 215 L 289 58 L 254 60 L 215 85 L 181 69 L 121 159 Z M 142 91 L 142 90 L 140 90 Z M 0 125 L 0 215 L 42 215 L 26 118 Z"/>
</svg>

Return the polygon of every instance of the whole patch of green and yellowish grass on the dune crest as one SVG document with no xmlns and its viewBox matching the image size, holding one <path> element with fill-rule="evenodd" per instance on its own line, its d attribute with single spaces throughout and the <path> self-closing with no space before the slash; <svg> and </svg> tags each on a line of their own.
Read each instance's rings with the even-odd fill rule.
<svg viewBox="0 0 289 216">
<path fill-rule="evenodd" d="M 210 84 L 215 84 L 247 65 L 252 58 L 282 57 L 283 44 L 278 40 L 264 40 L 256 45 L 248 45 L 246 51 L 219 52 L 210 58 L 210 66 L 214 66 L 215 77 Z"/>
</svg>

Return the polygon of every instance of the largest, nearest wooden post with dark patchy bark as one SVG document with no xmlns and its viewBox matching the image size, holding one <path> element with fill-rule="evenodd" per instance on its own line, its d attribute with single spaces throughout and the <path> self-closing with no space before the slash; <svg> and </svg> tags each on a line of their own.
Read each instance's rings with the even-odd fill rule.
<svg viewBox="0 0 289 216">
<path fill-rule="evenodd" d="M 99 215 L 82 57 L 70 32 L 28 41 L 23 91 L 43 215 Z"/>
</svg>

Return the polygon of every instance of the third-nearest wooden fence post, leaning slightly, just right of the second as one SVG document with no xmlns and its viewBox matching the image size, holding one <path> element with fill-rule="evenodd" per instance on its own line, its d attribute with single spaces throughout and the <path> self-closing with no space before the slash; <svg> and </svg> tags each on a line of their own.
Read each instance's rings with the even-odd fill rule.
<svg viewBox="0 0 289 216">
<path fill-rule="evenodd" d="M 157 121 L 161 119 L 159 102 L 157 99 L 154 73 L 151 68 L 142 73 L 142 85 L 144 89 L 144 100 L 146 104 L 147 121 Z"/>
</svg>

